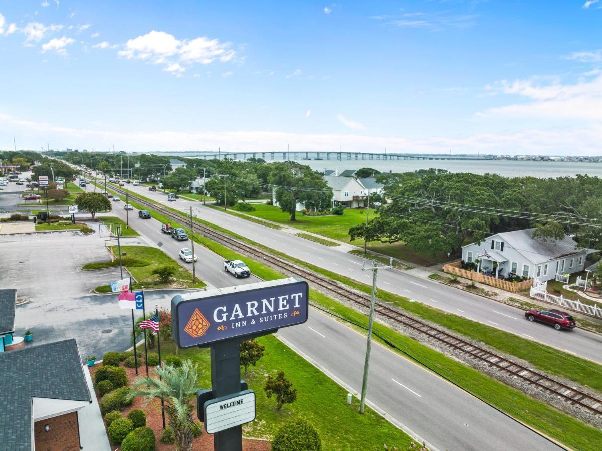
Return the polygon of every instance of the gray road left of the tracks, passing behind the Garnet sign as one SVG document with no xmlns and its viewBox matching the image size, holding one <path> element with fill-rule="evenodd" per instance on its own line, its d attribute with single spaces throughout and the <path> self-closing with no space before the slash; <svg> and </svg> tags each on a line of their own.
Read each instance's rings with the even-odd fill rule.
<svg viewBox="0 0 602 451">
<path fill-rule="evenodd" d="M 114 202 L 113 208 L 113 213 L 125 220 L 123 202 Z M 157 220 L 140 219 L 137 210 L 129 211 L 129 215 L 129 223 L 141 234 L 139 241 L 152 246 L 161 242 L 161 249 L 176 259 L 181 247 L 190 246 L 190 241 L 178 242 L 162 234 Z M 254 276 L 235 279 L 223 273 L 223 258 L 204 246 L 195 246 L 195 252 L 201 262 L 197 274 L 214 287 L 258 281 Z M 191 264 L 181 264 L 191 270 Z M 311 309 L 304 325 L 281 329 L 278 335 L 352 393 L 359 392 L 364 335 L 316 309 Z M 368 400 L 436 449 L 523 449 L 525 443 L 533 450 L 558 449 L 530 429 L 379 344 L 373 346 L 371 369 Z"/>
</svg>

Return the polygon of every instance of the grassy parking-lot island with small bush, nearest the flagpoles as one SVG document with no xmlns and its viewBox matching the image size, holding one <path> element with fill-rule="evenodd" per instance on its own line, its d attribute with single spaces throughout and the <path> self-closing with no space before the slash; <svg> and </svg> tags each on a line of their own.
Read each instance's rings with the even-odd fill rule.
<svg viewBox="0 0 602 451">
<path fill-rule="evenodd" d="M 111 246 L 111 250 L 118 257 L 117 246 Z M 180 266 L 173 258 L 169 257 L 163 250 L 149 246 L 121 246 L 123 257 L 128 257 L 124 266 L 135 279 L 134 288 L 203 288 L 205 282 L 197 278 L 196 283 L 192 281 L 192 273 Z M 131 260 L 130 260 L 131 259 Z M 129 263 L 129 264 L 128 264 Z M 177 272 L 172 281 L 163 284 L 158 281 L 157 276 L 152 274 L 158 267 L 170 265 L 176 268 Z M 84 269 L 95 269 L 99 267 L 119 266 L 119 258 L 113 262 L 95 262 L 84 266 Z M 101 288 L 102 287 L 102 288 Z M 106 285 L 101 285 L 97 291 L 105 291 Z"/>
</svg>

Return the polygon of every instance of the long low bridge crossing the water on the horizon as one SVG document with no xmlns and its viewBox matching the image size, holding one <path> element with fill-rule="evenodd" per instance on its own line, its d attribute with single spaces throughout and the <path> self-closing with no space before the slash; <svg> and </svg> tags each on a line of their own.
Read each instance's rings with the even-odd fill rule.
<svg viewBox="0 0 602 451">
<path fill-rule="evenodd" d="M 232 160 L 246 161 L 249 158 L 261 158 L 265 161 L 299 161 L 299 160 L 324 160 L 324 161 L 399 161 L 399 160 L 484 160 L 481 155 L 453 155 L 453 154 L 367 154 L 364 152 L 219 152 L 217 154 L 199 154 L 198 158 L 205 160 Z"/>
</svg>

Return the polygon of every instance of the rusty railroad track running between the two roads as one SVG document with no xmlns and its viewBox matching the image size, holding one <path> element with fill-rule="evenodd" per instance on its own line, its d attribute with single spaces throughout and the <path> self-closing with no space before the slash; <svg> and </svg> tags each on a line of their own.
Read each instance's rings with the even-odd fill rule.
<svg viewBox="0 0 602 451">
<path fill-rule="evenodd" d="M 125 194 L 125 190 L 122 190 L 121 188 L 111 186 L 111 189 Z M 170 217 L 178 222 L 182 222 L 182 216 L 173 213 L 173 211 L 167 210 L 167 208 L 154 204 L 154 202 L 148 202 L 144 199 L 141 199 L 135 194 L 129 194 L 129 196 L 132 199 L 135 199 L 138 204 L 145 205 L 149 207 L 149 209 L 158 211 L 164 216 Z M 364 308 L 370 308 L 370 297 L 367 294 L 356 293 L 355 291 L 352 291 L 349 288 L 346 288 L 337 282 L 326 278 L 325 276 L 303 269 L 302 267 L 292 265 L 288 261 L 275 257 L 274 255 L 254 246 L 250 246 L 249 244 L 237 240 L 236 238 L 233 238 L 227 234 L 215 231 L 205 225 L 195 223 L 194 230 L 196 232 L 200 232 L 202 235 L 205 235 L 205 237 L 220 241 L 234 250 L 242 250 L 252 257 L 261 258 L 273 266 L 280 268 L 284 272 L 290 273 L 291 268 L 293 268 L 294 275 L 304 278 L 307 281 L 320 286 L 324 290 L 330 291 L 330 293 L 335 294 L 335 296 L 343 296 L 352 303 L 361 305 Z M 521 379 L 527 384 L 533 385 L 542 391 L 553 394 L 559 399 L 565 400 L 572 405 L 579 406 L 583 409 L 593 412 L 594 414 L 602 415 L 602 400 L 597 399 L 594 396 L 583 393 L 576 388 L 569 387 L 562 382 L 551 379 L 542 373 L 536 372 L 535 370 L 529 369 L 524 365 L 513 362 L 489 350 L 462 340 L 462 338 L 458 338 L 455 335 L 449 334 L 441 329 L 437 329 L 427 323 L 418 321 L 412 317 L 400 313 L 394 308 L 383 305 L 382 303 L 378 303 L 374 311 L 383 319 L 391 320 L 414 331 L 420 332 L 420 334 L 436 340 L 451 349 L 458 350 L 470 358 L 488 365 L 494 370 L 505 373 L 513 378 Z"/>
</svg>

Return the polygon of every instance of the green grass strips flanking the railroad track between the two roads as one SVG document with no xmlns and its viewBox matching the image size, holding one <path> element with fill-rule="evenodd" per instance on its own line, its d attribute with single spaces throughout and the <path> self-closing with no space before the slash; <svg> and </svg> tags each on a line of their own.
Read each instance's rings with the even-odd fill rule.
<svg viewBox="0 0 602 451">
<path fill-rule="evenodd" d="M 182 215 L 182 213 L 176 210 L 173 211 Z M 151 214 L 153 217 L 162 222 L 167 221 L 166 217 L 156 213 L 155 211 L 151 211 Z M 184 217 L 182 217 L 182 219 L 184 220 Z M 254 243 L 252 240 L 241 237 L 234 232 L 229 232 L 226 229 L 208 224 L 199 219 L 196 220 L 197 222 L 210 225 L 218 230 L 228 232 L 230 235 L 240 240 L 247 241 L 255 246 L 262 247 L 263 249 L 269 249 L 265 246 L 259 245 L 258 243 Z M 174 226 L 182 226 L 182 224 L 174 224 L 173 220 L 171 222 Z M 249 266 L 252 272 L 259 278 L 272 280 L 283 277 L 275 270 L 256 261 L 252 261 L 249 258 L 244 257 L 243 255 L 234 252 L 234 250 L 231 250 L 222 244 L 216 243 L 213 240 L 209 240 L 205 237 L 199 237 L 199 235 L 195 235 L 195 238 L 197 241 L 199 241 L 199 243 L 202 243 L 209 249 L 219 253 L 222 255 L 222 257 L 228 260 L 237 258 L 244 260 L 247 263 L 247 266 Z M 282 253 L 276 250 L 272 249 L 271 252 L 275 253 L 275 255 L 282 256 Z M 361 291 L 367 292 L 367 290 L 370 290 L 369 285 L 362 284 L 361 282 L 356 282 L 352 279 L 345 278 L 344 276 L 338 276 L 335 275 L 335 273 L 318 269 L 317 267 L 303 263 L 302 261 L 298 261 L 294 258 L 288 257 L 288 260 L 294 261 L 294 263 L 297 264 L 302 264 L 302 266 L 306 266 L 309 269 L 316 270 L 317 272 L 325 273 L 327 276 L 336 280 L 341 280 L 344 283 L 358 288 Z M 386 294 L 386 297 L 383 296 L 383 294 Z M 490 328 L 489 326 L 480 325 L 480 323 L 466 320 L 462 317 L 456 317 L 455 315 L 444 313 L 438 309 L 430 308 L 429 306 L 420 304 L 418 302 L 410 303 L 408 299 L 402 296 L 396 296 L 379 290 L 379 297 L 381 297 L 381 299 L 389 300 L 389 295 L 394 296 L 394 298 L 391 299 L 391 302 L 405 302 L 406 305 L 414 306 L 418 309 L 426 309 L 427 312 L 432 311 L 432 313 L 437 315 L 453 317 L 453 320 L 458 322 L 458 326 L 464 329 L 464 331 L 468 331 L 472 325 L 477 325 L 480 328 L 477 335 L 482 338 L 482 341 L 488 341 L 486 339 L 492 331 L 497 332 L 497 334 L 500 335 L 498 335 L 496 341 L 510 341 L 513 349 L 516 349 L 516 347 L 521 347 L 521 349 L 524 348 L 523 355 L 527 357 L 527 360 L 529 360 L 529 353 L 532 355 L 532 353 L 539 352 L 544 353 L 544 356 L 539 359 L 540 361 L 558 358 L 559 361 L 556 362 L 548 361 L 547 366 L 564 365 L 566 367 L 566 371 L 563 371 L 563 375 L 571 375 L 574 370 L 583 370 L 588 372 L 586 378 L 589 379 L 593 373 L 599 375 L 600 372 L 602 372 L 602 365 L 593 364 L 592 362 L 586 361 L 585 359 L 580 359 L 573 355 L 569 356 L 568 354 L 559 352 L 551 347 L 525 340 L 517 335 L 499 331 L 498 329 Z M 346 320 L 352 321 L 364 327 L 367 325 L 367 316 L 365 314 L 359 313 L 355 309 L 349 308 L 340 302 L 324 296 L 321 293 L 310 290 L 310 300 L 311 302 L 324 306 L 324 308 L 328 309 L 332 313 L 337 314 L 338 316 L 343 317 Z M 433 318 L 435 322 L 436 319 L 437 318 Z M 569 415 L 563 414 L 562 412 L 557 411 L 545 403 L 534 400 L 526 396 L 521 391 L 507 387 L 501 382 L 497 382 L 494 379 L 491 379 L 488 376 L 483 375 L 482 373 L 477 372 L 476 370 L 456 361 L 455 359 L 448 358 L 444 354 L 430 349 L 429 347 L 412 340 L 412 338 L 400 334 L 393 328 L 381 325 L 380 323 L 375 323 L 374 330 L 382 337 L 385 337 L 389 343 L 393 343 L 402 349 L 402 351 L 397 350 L 396 352 L 402 355 L 410 356 L 421 365 L 430 367 L 439 375 L 447 378 L 454 384 L 457 384 L 459 387 L 467 390 L 469 393 L 474 394 L 474 396 L 485 400 L 486 402 L 499 408 L 501 411 L 506 412 L 510 416 L 523 421 L 527 425 L 530 425 L 539 431 L 544 432 L 544 434 L 548 434 L 551 437 L 556 438 L 556 440 L 565 443 L 574 449 L 589 449 L 589 447 L 591 447 L 591 443 L 597 443 L 598 441 L 602 440 L 602 432 L 598 429 L 592 428 L 591 426 L 586 425 L 582 421 L 576 420 L 573 417 L 569 417 Z M 380 341 L 379 338 L 375 339 Z M 599 378 L 595 377 L 595 379 L 598 379 L 598 382 L 594 381 L 594 384 L 585 385 L 602 385 L 602 381 L 600 381 Z M 340 447 L 341 444 L 338 444 L 335 449 L 339 449 Z"/>
</svg>

